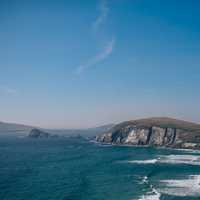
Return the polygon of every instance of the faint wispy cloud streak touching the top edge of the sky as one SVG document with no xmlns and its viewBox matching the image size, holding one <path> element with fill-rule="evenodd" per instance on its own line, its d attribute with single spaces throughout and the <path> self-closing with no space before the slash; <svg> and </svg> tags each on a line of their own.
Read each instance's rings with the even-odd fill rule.
<svg viewBox="0 0 200 200">
<path fill-rule="evenodd" d="M 93 23 L 93 29 L 95 31 L 99 28 L 99 26 L 101 26 L 104 23 L 104 21 L 107 18 L 107 15 L 108 15 L 108 12 L 109 12 L 109 8 L 108 8 L 106 0 L 101 0 L 100 1 L 99 10 L 100 10 L 100 14 L 96 18 L 95 22 Z"/>
</svg>

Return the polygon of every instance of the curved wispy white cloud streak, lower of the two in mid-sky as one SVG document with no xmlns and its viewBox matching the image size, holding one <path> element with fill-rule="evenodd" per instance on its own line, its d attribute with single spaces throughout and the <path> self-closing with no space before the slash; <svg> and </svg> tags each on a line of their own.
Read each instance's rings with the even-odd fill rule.
<svg viewBox="0 0 200 200">
<path fill-rule="evenodd" d="M 106 46 L 104 47 L 103 51 L 100 52 L 99 54 L 97 54 L 96 56 L 92 57 L 91 59 L 89 59 L 85 64 L 80 65 L 76 72 L 77 74 L 82 73 L 84 70 L 95 66 L 96 64 L 102 62 L 103 60 L 105 60 L 106 58 L 108 58 L 108 56 L 113 52 L 115 46 L 115 39 L 112 38 L 112 40 L 110 40 Z"/>
</svg>

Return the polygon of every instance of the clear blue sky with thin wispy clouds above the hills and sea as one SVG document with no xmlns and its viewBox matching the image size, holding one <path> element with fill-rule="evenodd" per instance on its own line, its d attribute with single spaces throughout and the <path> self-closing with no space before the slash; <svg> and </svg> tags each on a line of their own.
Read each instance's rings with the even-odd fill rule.
<svg viewBox="0 0 200 200">
<path fill-rule="evenodd" d="M 200 122 L 197 0 L 0 0 L 0 121 Z"/>
</svg>

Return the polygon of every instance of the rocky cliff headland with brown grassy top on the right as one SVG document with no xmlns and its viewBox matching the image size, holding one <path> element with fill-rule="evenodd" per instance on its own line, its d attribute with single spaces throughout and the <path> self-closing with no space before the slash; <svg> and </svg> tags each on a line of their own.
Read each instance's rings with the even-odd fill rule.
<svg viewBox="0 0 200 200">
<path fill-rule="evenodd" d="M 146 118 L 117 124 L 96 136 L 102 143 L 200 149 L 200 125 L 172 118 Z"/>
</svg>

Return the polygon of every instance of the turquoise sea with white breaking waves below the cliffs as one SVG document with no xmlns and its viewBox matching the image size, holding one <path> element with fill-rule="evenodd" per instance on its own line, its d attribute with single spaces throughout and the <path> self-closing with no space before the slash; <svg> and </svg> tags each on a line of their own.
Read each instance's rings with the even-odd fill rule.
<svg viewBox="0 0 200 200">
<path fill-rule="evenodd" d="M 1 200 L 199 200 L 200 153 L 0 139 Z"/>
</svg>

